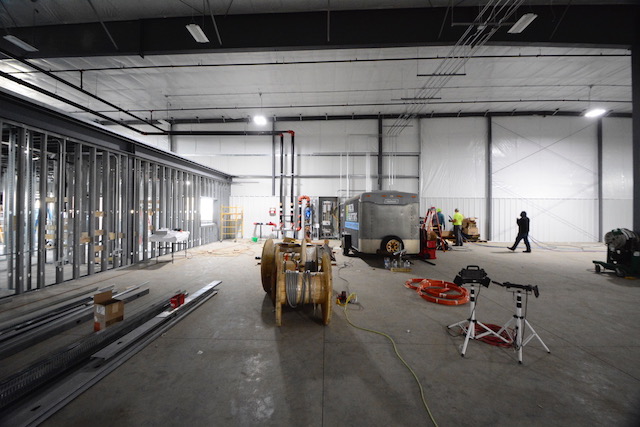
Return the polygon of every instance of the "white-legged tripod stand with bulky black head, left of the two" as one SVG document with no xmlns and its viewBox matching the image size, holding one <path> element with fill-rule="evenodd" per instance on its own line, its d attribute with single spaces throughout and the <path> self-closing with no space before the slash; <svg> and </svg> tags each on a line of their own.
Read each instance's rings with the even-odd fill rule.
<svg viewBox="0 0 640 427">
<path fill-rule="evenodd" d="M 488 335 L 495 335 L 505 343 L 509 343 L 509 341 L 506 338 L 500 335 L 500 332 L 502 331 L 496 332 L 493 329 L 489 328 L 484 323 L 479 322 L 476 319 L 476 290 L 474 285 L 478 283 L 485 287 L 489 287 L 490 280 L 491 279 L 487 277 L 484 270 L 480 269 L 480 267 L 478 267 L 477 265 L 469 265 L 467 266 L 466 269 L 462 269 L 460 273 L 458 273 L 456 278 L 453 280 L 453 283 L 455 283 L 458 286 L 462 286 L 467 283 L 470 285 L 469 303 L 471 305 L 471 308 L 470 308 L 471 313 L 469 315 L 469 318 L 447 326 L 447 329 L 460 327 L 460 329 L 462 329 L 463 332 L 466 332 L 464 337 L 464 344 L 462 345 L 462 351 L 460 352 L 460 356 L 462 357 L 464 357 L 465 353 L 467 352 L 467 345 L 469 345 L 470 339 L 480 339 Z M 480 294 L 480 288 L 478 288 L 478 295 L 479 294 Z M 476 335 L 476 326 L 479 326 L 480 328 L 484 329 L 484 331 Z M 466 331 L 465 331 L 465 328 L 466 328 Z"/>
</svg>

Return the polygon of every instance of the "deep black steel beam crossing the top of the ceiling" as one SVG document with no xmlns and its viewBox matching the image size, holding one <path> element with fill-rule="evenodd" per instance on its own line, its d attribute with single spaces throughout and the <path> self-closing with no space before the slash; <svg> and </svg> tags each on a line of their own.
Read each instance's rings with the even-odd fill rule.
<svg viewBox="0 0 640 427">
<path fill-rule="evenodd" d="M 636 24 L 635 6 L 528 7 L 538 18 L 521 34 L 506 29 L 492 43 L 630 47 Z M 374 46 L 452 44 L 463 28 L 441 26 L 446 8 L 331 11 L 331 39 L 327 40 L 324 12 L 272 13 L 212 16 L 203 23 L 207 34 L 224 34 L 224 46 L 195 43 L 184 31 L 190 17 L 109 22 L 110 33 L 121 55 L 175 53 L 335 49 Z M 477 8 L 457 7 L 456 20 L 472 21 Z M 560 18 L 562 22 L 558 25 Z M 214 20 L 216 28 L 214 28 Z M 113 55 L 114 46 L 104 38 L 99 23 L 10 28 L 17 37 L 32 40 L 39 52 L 29 57 Z M 219 40 L 220 41 L 220 40 Z M 0 47 L 18 54 L 16 47 L 0 40 Z"/>
</svg>

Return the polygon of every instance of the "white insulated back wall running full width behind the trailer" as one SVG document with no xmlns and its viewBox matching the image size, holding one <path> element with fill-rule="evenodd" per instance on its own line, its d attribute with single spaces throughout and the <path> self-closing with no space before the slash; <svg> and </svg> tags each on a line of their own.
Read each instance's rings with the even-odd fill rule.
<svg viewBox="0 0 640 427">
<path fill-rule="evenodd" d="M 383 122 L 383 134 L 391 120 Z M 489 119 L 414 120 L 398 137 L 383 139 L 382 188 L 419 193 L 421 210 L 454 208 L 477 217 L 482 238 L 511 242 L 520 211 L 531 217 L 531 236 L 545 242 L 593 242 L 598 232 L 596 122 L 580 117 L 494 117 L 492 218 L 487 218 Z M 188 125 L 177 130 L 259 130 L 247 124 Z M 345 198 L 377 188 L 377 120 L 278 122 L 294 130 L 295 197 Z M 231 205 L 245 208 L 245 237 L 279 203 L 272 194 L 271 136 L 175 137 L 178 154 L 236 175 Z M 276 177 L 280 174 L 276 138 Z M 290 194 L 290 137 L 285 136 L 284 194 Z M 603 232 L 631 228 L 631 119 L 603 119 Z M 449 226 L 448 229 L 451 227 Z"/>
</svg>

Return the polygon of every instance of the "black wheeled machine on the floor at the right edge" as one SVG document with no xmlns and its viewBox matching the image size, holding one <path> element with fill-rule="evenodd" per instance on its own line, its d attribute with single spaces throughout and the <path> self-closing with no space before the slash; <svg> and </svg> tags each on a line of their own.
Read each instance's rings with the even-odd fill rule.
<svg viewBox="0 0 640 427">
<path fill-rule="evenodd" d="M 604 235 L 607 244 L 607 261 L 593 261 L 596 273 L 602 269 L 613 270 L 616 276 L 640 275 L 640 236 L 626 228 L 616 228 Z"/>
</svg>

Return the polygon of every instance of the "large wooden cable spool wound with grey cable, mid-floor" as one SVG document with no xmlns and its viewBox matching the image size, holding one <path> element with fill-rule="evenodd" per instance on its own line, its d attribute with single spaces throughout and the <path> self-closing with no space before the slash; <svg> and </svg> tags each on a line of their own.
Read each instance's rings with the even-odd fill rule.
<svg viewBox="0 0 640 427">
<path fill-rule="evenodd" d="M 320 248 L 320 245 L 305 241 L 302 244 L 276 244 L 272 239 L 265 242 L 260 266 L 262 288 L 275 305 L 278 326 L 282 325 L 282 306 L 285 304 L 292 307 L 320 305 L 322 323 L 328 325 L 331 321 L 331 257 Z"/>
</svg>

